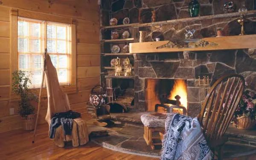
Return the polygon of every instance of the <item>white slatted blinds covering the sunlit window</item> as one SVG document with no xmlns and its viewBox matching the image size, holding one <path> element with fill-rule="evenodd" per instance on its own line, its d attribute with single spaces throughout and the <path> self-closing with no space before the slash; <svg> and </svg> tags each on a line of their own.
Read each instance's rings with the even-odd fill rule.
<svg viewBox="0 0 256 160">
<path fill-rule="evenodd" d="M 19 70 L 32 73 L 30 88 L 41 86 L 44 48 L 61 85 L 71 84 L 71 25 L 18 17 Z"/>
</svg>

